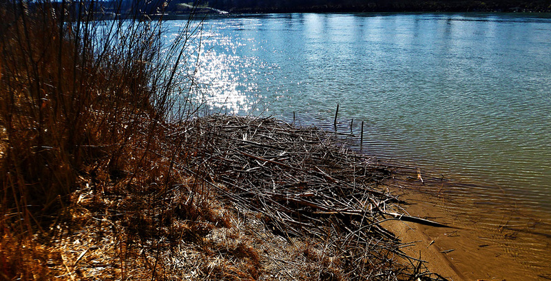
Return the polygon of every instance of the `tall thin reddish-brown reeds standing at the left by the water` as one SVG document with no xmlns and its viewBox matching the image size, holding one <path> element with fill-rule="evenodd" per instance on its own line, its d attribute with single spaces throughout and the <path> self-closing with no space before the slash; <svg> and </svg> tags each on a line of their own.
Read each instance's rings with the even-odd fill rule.
<svg viewBox="0 0 551 281">
<path fill-rule="evenodd" d="M 170 182 L 171 165 L 151 158 L 167 148 L 159 143 L 167 122 L 193 113 L 194 74 L 183 70 L 193 70 L 200 21 L 192 11 L 167 42 L 162 16 L 143 13 L 163 14 L 164 2 L 0 1 L 3 277 L 24 266 L 24 254 L 14 258 L 22 237 L 63 213 L 79 179 Z M 163 157 L 182 149 L 174 143 Z"/>
</svg>

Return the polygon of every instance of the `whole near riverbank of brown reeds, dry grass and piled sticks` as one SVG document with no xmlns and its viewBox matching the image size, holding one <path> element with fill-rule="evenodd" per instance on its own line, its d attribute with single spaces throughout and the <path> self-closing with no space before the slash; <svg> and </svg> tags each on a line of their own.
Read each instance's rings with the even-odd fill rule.
<svg viewBox="0 0 551 281">
<path fill-rule="evenodd" d="M 444 280 L 380 226 L 391 167 L 206 114 L 193 13 L 165 37 L 94 3 L 0 2 L 1 279 Z"/>
</svg>

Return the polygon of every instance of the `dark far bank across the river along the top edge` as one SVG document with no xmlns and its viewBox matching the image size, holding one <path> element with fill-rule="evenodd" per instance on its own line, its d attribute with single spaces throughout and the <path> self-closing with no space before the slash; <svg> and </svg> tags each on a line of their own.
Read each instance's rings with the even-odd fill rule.
<svg viewBox="0 0 551 281">
<path fill-rule="evenodd" d="M 0 0 L 0 3 L 6 0 Z M 189 12 L 551 12 L 551 0 L 84 0 L 116 14 Z M 10 2 L 10 1 L 8 1 Z M 57 1 L 54 3 L 72 1 Z M 78 1 L 77 1 L 78 2 Z"/>
</svg>

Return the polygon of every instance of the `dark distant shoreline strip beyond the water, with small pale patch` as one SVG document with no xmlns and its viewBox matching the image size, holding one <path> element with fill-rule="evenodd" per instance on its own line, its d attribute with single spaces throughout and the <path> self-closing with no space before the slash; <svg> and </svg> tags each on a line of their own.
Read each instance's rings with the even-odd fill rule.
<svg viewBox="0 0 551 281">
<path fill-rule="evenodd" d="M 222 1 L 223 2 L 223 1 Z M 287 3 L 287 1 L 255 1 L 255 4 L 234 1 L 231 5 L 215 1 L 209 6 L 191 6 L 175 1 L 172 5 L 161 7 L 160 3 L 147 3 L 143 6 L 118 7 L 106 1 L 92 8 L 90 12 L 96 19 L 115 19 L 132 17 L 180 17 L 189 14 L 269 14 L 269 13 L 307 13 L 307 12 L 551 12 L 550 1 L 347 1 L 347 4 L 331 3 L 331 0 L 311 1 L 315 4 Z M 334 2 L 334 1 L 333 1 Z M 54 10 L 61 9 L 61 3 L 50 3 Z M 37 10 L 40 5 L 30 4 L 29 10 Z M 68 7 L 70 8 L 70 6 Z"/>
</svg>

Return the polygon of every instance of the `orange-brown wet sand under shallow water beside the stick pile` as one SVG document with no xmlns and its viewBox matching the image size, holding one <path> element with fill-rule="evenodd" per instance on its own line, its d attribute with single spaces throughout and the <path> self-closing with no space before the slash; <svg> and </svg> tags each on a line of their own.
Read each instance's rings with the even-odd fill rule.
<svg viewBox="0 0 551 281">
<path fill-rule="evenodd" d="M 388 188 L 410 203 L 404 209 L 450 227 L 399 220 L 384 227 L 414 243 L 404 252 L 426 260 L 430 271 L 448 280 L 551 280 L 551 224 L 543 214 L 481 204 L 474 192 L 472 198 L 446 194 L 460 185 L 439 184 L 437 179 L 424 184 L 403 176 L 391 180 Z"/>
</svg>

